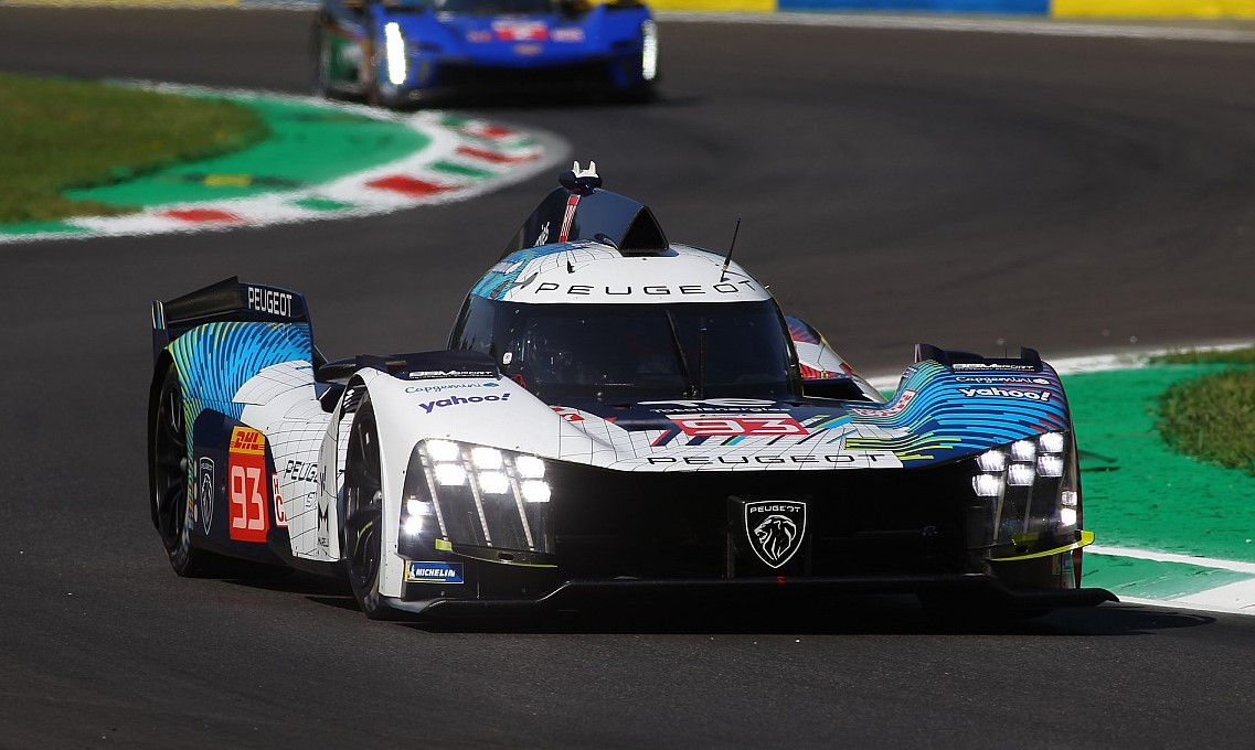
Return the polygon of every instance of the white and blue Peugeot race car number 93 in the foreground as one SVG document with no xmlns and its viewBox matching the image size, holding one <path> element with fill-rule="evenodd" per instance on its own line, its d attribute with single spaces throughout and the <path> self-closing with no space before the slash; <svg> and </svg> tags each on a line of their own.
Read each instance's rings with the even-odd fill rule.
<svg viewBox="0 0 1255 750">
<path fill-rule="evenodd" d="M 912 592 L 1040 613 L 1081 588 L 1081 482 L 1037 352 L 927 345 L 885 399 L 727 256 L 566 172 L 446 351 L 326 361 L 305 298 L 153 304 L 152 518 L 181 576 L 346 576 L 466 615 Z"/>
</svg>

